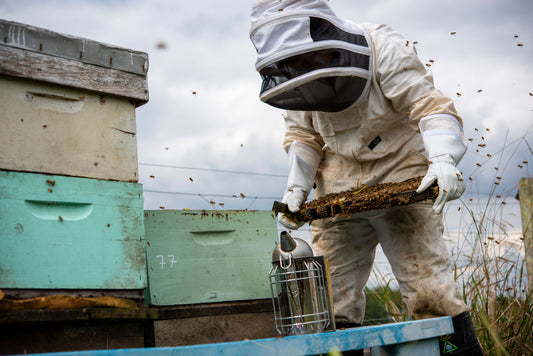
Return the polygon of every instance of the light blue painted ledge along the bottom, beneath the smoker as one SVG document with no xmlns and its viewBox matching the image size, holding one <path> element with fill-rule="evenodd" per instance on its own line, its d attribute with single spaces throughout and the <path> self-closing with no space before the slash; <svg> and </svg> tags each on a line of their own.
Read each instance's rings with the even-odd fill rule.
<svg viewBox="0 0 533 356">
<path fill-rule="evenodd" d="M 245 340 L 151 349 L 98 350 L 46 354 L 47 356 L 267 356 L 315 355 L 332 349 L 339 351 L 388 346 L 388 355 L 438 353 L 437 337 L 453 333 L 451 317 L 368 326 L 321 334 Z M 395 345 L 395 346 L 393 346 Z M 386 350 L 386 349 L 382 349 Z M 405 350 L 403 352 L 402 350 Z M 407 352 L 407 353 L 406 353 Z"/>
</svg>

